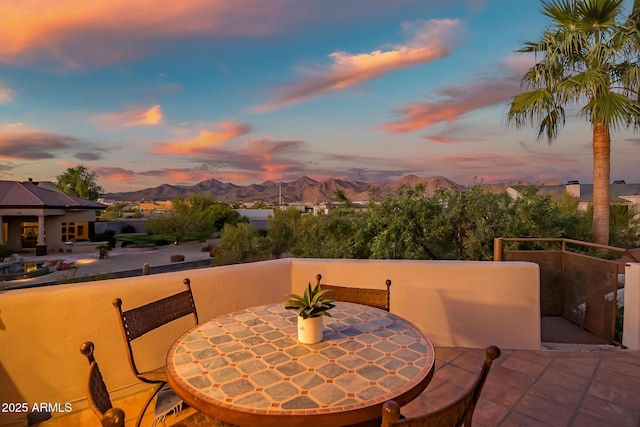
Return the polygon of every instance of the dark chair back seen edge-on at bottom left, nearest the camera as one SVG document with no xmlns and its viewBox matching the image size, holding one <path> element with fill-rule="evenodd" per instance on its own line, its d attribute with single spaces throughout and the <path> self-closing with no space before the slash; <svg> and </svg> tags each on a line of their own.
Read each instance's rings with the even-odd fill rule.
<svg viewBox="0 0 640 427">
<path fill-rule="evenodd" d="M 107 391 L 107 386 L 102 378 L 100 368 L 93 357 L 95 347 L 91 341 L 82 343 L 80 353 L 89 361 L 89 381 L 87 383 L 87 398 L 89 406 L 100 419 L 104 427 L 124 427 L 124 411 L 114 408 Z"/>
</svg>

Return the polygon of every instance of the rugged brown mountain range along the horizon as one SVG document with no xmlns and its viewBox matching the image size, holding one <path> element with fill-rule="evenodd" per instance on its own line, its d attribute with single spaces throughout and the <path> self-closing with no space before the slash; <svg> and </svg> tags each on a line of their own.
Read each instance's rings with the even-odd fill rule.
<svg viewBox="0 0 640 427">
<path fill-rule="evenodd" d="M 331 178 L 326 181 L 316 181 L 307 176 L 291 182 L 265 181 L 261 184 L 246 186 L 224 183 L 216 179 L 208 179 L 194 185 L 170 185 L 163 184 L 158 187 L 147 188 L 138 191 L 104 194 L 105 200 L 114 201 L 161 201 L 172 200 L 175 197 L 188 197 L 191 194 L 210 195 L 219 202 L 266 202 L 271 204 L 283 203 L 321 203 L 336 201 L 336 193 L 342 192 L 353 202 L 367 201 L 371 194 L 376 198 L 383 198 L 389 194 L 395 194 L 399 187 L 405 185 L 411 188 L 418 184 L 425 187 L 425 192 L 433 194 L 436 189 L 464 189 L 465 186 L 457 184 L 442 176 L 418 177 L 405 176 L 390 183 L 371 183 L 364 181 L 348 181 Z M 526 181 L 486 184 L 492 191 L 500 192 L 510 185 L 527 185 Z M 556 185 L 558 181 L 545 183 Z"/>
</svg>

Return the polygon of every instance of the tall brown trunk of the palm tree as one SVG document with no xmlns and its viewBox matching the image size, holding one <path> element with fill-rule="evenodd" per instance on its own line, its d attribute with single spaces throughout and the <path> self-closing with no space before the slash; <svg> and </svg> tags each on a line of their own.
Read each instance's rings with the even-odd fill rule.
<svg viewBox="0 0 640 427">
<path fill-rule="evenodd" d="M 593 225 L 591 241 L 609 244 L 611 137 L 604 123 L 593 125 Z"/>
</svg>

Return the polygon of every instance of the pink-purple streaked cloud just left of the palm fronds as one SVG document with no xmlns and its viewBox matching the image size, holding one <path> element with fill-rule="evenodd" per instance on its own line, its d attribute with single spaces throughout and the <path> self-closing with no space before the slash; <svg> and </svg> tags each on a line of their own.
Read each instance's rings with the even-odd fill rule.
<svg viewBox="0 0 640 427">
<path fill-rule="evenodd" d="M 528 65 L 527 65 L 528 64 Z M 472 111 L 505 102 L 520 93 L 520 81 L 529 60 L 509 58 L 506 73 L 491 78 L 476 78 L 472 84 L 450 86 L 437 92 L 430 102 L 412 102 L 399 109 L 401 118 L 379 129 L 392 133 L 410 132 L 437 123 L 452 123 Z"/>
</svg>

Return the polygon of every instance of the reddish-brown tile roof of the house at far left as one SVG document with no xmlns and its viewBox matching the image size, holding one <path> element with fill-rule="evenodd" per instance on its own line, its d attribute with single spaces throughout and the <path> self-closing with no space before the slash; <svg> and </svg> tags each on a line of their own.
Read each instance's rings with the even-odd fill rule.
<svg viewBox="0 0 640 427">
<path fill-rule="evenodd" d="M 0 181 L 0 208 L 8 207 L 104 209 L 106 206 L 93 200 L 40 187 L 37 183 Z"/>
</svg>

